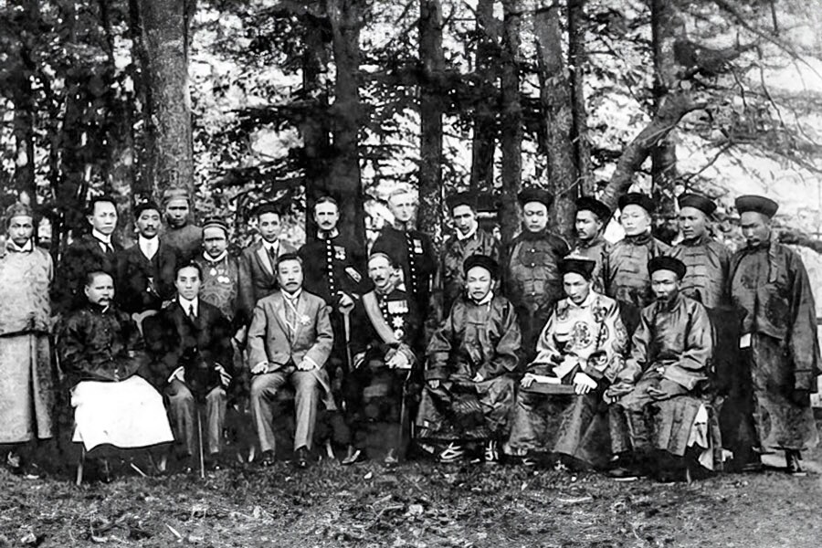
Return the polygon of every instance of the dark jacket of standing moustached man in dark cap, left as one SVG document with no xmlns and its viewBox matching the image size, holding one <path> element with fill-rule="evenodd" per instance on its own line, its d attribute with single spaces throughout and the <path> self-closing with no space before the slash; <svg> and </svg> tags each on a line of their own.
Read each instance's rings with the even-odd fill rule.
<svg viewBox="0 0 822 548">
<path fill-rule="evenodd" d="M 160 240 L 160 247 L 149 259 L 140 246 L 121 251 L 117 255 L 117 294 L 115 298 L 122 311 L 159 311 L 163 300 L 174 298 L 174 269 L 180 260 L 179 251 Z M 149 291 L 149 278 L 153 290 Z"/>
</svg>

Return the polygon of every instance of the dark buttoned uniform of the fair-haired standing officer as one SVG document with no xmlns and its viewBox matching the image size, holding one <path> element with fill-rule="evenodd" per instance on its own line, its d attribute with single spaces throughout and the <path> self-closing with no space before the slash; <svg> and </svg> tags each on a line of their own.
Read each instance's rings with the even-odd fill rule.
<svg viewBox="0 0 822 548">
<path fill-rule="evenodd" d="M 431 281 L 437 272 L 437 254 L 431 237 L 419 230 L 398 230 L 386 225 L 374 241 L 372 253 L 385 253 L 403 269 L 408 297 L 427 316 Z"/>
</svg>

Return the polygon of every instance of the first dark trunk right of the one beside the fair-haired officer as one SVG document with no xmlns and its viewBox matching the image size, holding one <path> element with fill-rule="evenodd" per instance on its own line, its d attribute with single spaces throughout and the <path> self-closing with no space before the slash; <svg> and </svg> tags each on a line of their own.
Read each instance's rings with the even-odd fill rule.
<svg viewBox="0 0 822 548">
<path fill-rule="evenodd" d="M 494 187 L 494 151 L 497 138 L 496 100 L 497 74 L 494 71 L 500 42 L 500 22 L 494 17 L 494 1 L 479 0 L 477 4 L 476 73 L 486 90 L 474 107 L 471 138 L 470 188 L 490 191 Z"/>
</svg>

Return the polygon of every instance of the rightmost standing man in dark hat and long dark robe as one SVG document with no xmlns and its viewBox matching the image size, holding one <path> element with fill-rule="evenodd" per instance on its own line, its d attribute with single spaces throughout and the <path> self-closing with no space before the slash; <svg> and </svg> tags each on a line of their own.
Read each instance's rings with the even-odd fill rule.
<svg viewBox="0 0 822 548">
<path fill-rule="evenodd" d="M 801 451 L 818 441 L 810 395 L 817 392 L 819 342 L 805 265 L 772 233 L 778 207 L 764 196 L 736 198 L 745 247 L 733 254 L 729 279 L 754 387 L 757 448 L 785 451 L 788 471 L 799 472 Z"/>
</svg>

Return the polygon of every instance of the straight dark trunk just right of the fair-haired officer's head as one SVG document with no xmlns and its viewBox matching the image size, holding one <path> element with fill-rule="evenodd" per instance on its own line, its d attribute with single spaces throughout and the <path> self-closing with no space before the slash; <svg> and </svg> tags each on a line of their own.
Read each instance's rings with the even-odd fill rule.
<svg viewBox="0 0 822 548">
<path fill-rule="evenodd" d="M 419 0 L 419 214 L 417 225 L 442 231 L 442 6 Z"/>
</svg>

